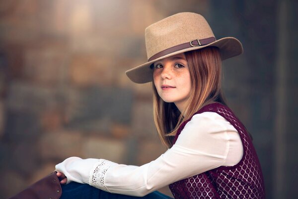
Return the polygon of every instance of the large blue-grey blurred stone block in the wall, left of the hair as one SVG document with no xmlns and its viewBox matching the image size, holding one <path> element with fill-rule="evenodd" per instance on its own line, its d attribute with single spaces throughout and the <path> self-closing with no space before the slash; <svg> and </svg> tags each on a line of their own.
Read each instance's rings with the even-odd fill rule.
<svg viewBox="0 0 298 199">
<path fill-rule="evenodd" d="M 67 126 L 84 131 L 109 132 L 112 123 L 130 124 L 132 91 L 113 87 L 72 89 L 68 94 Z"/>
</svg>

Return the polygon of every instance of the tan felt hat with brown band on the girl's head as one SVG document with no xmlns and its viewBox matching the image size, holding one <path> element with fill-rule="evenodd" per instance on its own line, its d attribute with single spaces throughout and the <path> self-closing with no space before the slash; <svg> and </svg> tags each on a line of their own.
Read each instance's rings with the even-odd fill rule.
<svg viewBox="0 0 298 199">
<path fill-rule="evenodd" d="M 222 60 L 243 52 L 240 41 L 234 37 L 216 40 L 206 19 L 192 12 L 177 13 L 149 25 L 145 41 L 148 62 L 125 72 L 131 81 L 139 84 L 152 81 L 152 63 L 172 55 L 207 46 L 218 47 Z"/>
</svg>

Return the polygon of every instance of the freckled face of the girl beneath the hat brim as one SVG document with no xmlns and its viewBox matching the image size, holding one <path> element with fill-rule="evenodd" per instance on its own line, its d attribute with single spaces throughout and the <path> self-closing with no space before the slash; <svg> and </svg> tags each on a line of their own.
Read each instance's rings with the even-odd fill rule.
<svg viewBox="0 0 298 199">
<path fill-rule="evenodd" d="M 191 90 L 191 80 L 183 53 L 155 62 L 153 81 L 162 100 L 174 102 L 180 111 L 184 110 Z"/>
</svg>

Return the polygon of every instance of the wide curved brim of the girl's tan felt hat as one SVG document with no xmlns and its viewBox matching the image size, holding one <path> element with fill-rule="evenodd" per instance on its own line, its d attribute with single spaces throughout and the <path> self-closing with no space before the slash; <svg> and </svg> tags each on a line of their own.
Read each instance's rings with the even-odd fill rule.
<svg viewBox="0 0 298 199">
<path fill-rule="evenodd" d="M 224 38 L 221 38 L 219 40 L 216 40 L 216 41 L 209 43 L 207 45 L 204 45 L 204 46 L 185 48 L 183 50 L 169 53 L 169 54 L 159 57 L 157 59 L 151 60 L 145 64 L 137 66 L 133 69 L 130 69 L 130 70 L 126 71 L 125 73 L 126 73 L 127 77 L 129 77 L 129 79 L 131 81 L 133 81 L 134 83 L 144 84 L 144 83 L 152 82 L 152 70 L 150 69 L 150 65 L 152 63 L 154 63 L 158 60 L 164 59 L 166 57 L 170 57 L 173 55 L 177 55 L 177 54 L 192 51 L 192 50 L 205 48 L 208 46 L 218 47 L 220 49 L 222 60 L 225 60 L 225 59 L 228 59 L 231 57 L 235 57 L 237 55 L 242 54 L 242 52 L 243 52 L 242 44 L 240 43 L 240 41 L 238 39 L 236 39 L 234 37 L 224 37 Z"/>
</svg>

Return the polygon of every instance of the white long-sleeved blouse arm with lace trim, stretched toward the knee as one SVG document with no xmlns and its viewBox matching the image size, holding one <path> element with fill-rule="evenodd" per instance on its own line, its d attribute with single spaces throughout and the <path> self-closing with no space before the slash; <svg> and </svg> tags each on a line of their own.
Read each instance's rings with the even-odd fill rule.
<svg viewBox="0 0 298 199">
<path fill-rule="evenodd" d="M 71 157 L 56 165 L 72 181 L 130 196 L 145 196 L 176 181 L 220 166 L 236 165 L 243 146 L 237 130 L 215 112 L 196 114 L 176 143 L 156 160 L 142 166 L 104 159 Z"/>
</svg>

